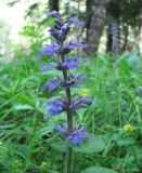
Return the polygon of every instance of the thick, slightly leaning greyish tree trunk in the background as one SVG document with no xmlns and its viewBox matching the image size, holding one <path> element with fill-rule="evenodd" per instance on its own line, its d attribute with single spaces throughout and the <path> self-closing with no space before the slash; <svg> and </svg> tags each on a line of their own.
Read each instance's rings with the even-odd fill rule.
<svg viewBox="0 0 142 173">
<path fill-rule="evenodd" d="M 98 51 L 100 37 L 104 28 L 104 19 L 108 0 L 98 0 L 95 10 L 91 18 L 91 24 L 88 32 L 88 51 L 94 53 Z"/>
</svg>

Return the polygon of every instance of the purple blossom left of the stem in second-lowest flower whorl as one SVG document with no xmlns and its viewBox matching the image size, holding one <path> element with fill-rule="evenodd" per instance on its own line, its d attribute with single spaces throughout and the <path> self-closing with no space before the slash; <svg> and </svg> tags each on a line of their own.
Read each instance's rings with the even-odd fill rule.
<svg viewBox="0 0 142 173">
<path fill-rule="evenodd" d="M 46 105 L 50 107 L 47 116 L 56 116 L 65 111 L 65 108 L 66 108 L 66 103 L 61 99 L 54 99 L 51 102 L 47 102 Z"/>
</svg>

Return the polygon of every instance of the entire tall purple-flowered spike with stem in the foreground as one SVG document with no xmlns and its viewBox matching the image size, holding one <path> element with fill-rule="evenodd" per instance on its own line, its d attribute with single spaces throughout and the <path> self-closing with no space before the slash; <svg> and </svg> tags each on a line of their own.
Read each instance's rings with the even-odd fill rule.
<svg viewBox="0 0 142 173">
<path fill-rule="evenodd" d="M 61 133 L 61 135 L 67 141 L 67 161 L 65 172 L 69 173 L 72 167 L 72 146 L 80 145 L 80 143 L 83 143 L 83 141 L 89 137 L 89 134 L 85 131 L 81 124 L 73 127 L 73 118 L 78 109 L 86 108 L 88 104 L 93 102 L 93 99 L 87 98 L 86 96 L 72 96 L 70 88 L 78 86 L 78 81 L 80 79 L 86 79 L 87 77 L 78 74 L 72 75 L 70 72 L 79 66 L 80 62 L 86 62 L 87 59 L 80 56 L 70 57 L 68 54 L 75 49 L 86 49 L 87 44 L 85 42 L 74 42 L 72 40 L 66 43 L 70 26 L 76 25 L 77 27 L 81 27 L 83 25 L 82 22 L 78 21 L 76 17 L 63 21 L 56 11 L 48 13 L 48 16 L 56 18 L 54 28 L 49 29 L 50 35 L 52 35 L 54 39 L 54 43 L 44 45 L 39 51 L 38 56 L 40 57 L 42 54 L 48 56 L 53 54 L 57 55 L 55 59 L 52 58 L 51 63 L 44 65 L 41 70 L 59 70 L 61 72 L 61 78 L 49 80 L 41 88 L 48 88 L 49 92 L 53 92 L 56 88 L 61 86 L 65 91 L 65 96 L 56 97 L 51 102 L 47 102 L 46 106 L 49 107 L 47 116 L 54 117 L 63 111 L 66 112 L 66 125 L 59 124 L 55 127 L 55 131 Z"/>
</svg>

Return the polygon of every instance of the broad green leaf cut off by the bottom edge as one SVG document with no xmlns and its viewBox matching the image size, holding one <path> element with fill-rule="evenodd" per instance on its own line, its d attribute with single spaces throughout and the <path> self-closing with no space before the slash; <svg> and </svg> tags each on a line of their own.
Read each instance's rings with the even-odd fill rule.
<svg viewBox="0 0 142 173">
<path fill-rule="evenodd" d="M 118 172 L 101 167 L 90 167 L 89 169 L 85 170 L 81 173 L 118 173 Z"/>
</svg>

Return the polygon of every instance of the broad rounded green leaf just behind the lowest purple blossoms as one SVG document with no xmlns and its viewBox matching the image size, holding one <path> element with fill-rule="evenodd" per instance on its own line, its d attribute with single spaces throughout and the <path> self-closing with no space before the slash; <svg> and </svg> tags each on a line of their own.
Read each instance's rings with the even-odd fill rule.
<svg viewBox="0 0 142 173">
<path fill-rule="evenodd" d="M 79 146 L 73 146 L 75 151 L 83 154 L 101 152 L 104 148 L 103 139 L 93 134 L 89 134 L 89 137 Z"/>
</svg>

